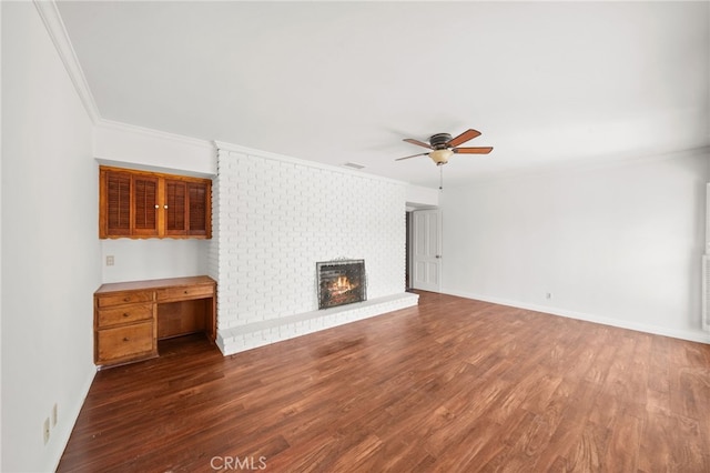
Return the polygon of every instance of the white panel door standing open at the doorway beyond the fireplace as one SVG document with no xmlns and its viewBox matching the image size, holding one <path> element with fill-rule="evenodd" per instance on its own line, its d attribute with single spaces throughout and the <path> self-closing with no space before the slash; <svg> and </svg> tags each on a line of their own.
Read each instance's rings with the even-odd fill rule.
<svg viewBox="0 0 710 473">
<path fill-rule="evenodd" d="M 412 286 L 438 292 L 442 288 L 442 212 L 412 212 Z"/>
</svg>

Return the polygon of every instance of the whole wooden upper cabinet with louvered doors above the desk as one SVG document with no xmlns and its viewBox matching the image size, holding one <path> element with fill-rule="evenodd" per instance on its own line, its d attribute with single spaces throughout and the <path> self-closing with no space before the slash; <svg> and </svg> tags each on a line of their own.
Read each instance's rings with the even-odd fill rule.
<svg viewBox="0 0 710 473">
<path fill-rule="evenodd" d="M 212 238 L 212 181 L 101 167 L 99 236 Z"/>
</svg>

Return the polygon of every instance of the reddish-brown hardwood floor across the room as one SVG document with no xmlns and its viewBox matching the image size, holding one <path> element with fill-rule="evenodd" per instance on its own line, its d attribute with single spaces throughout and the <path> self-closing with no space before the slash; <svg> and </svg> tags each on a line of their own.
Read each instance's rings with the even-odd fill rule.
<svg viewBox="0 0 710 473">
<path fill-rule="evenodd" d="M 710 345 L 455 296 L 101 371 L 80 472 L 710 472 Z"/>
</svg>

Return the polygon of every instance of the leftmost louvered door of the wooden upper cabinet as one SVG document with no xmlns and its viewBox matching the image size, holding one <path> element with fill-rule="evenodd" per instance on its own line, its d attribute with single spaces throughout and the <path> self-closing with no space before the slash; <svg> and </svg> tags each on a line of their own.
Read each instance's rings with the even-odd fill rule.
<svg viewBox="0 0 710 473">
<path fill-rule="evenodd" d="M 99 187 L 99 236 L 131 235 L 131 174 L 102 170 Z"/>
</svg>

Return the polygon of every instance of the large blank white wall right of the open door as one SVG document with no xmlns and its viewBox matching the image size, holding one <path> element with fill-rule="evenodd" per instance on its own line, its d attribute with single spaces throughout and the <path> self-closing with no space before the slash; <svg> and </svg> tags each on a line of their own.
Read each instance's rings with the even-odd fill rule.
<svg viewBox="0 0 710 473">
<path fill-rule="evenodd" d="M 700 331 L 708 155 L 445 189 L 443 292 L 710 340 Z"/>
</svg>

